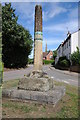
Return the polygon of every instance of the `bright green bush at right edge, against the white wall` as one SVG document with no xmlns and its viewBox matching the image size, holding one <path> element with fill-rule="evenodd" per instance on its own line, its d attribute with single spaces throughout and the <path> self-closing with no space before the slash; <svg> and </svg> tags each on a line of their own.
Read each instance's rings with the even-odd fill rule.
<svg viewBox="0 0 80 120">
<path fill-rule="evenodd" d="M 72 65 L 80 65 L 80 51 L 77 47 L 77 51 L 71 54 Z"/>
</svg>

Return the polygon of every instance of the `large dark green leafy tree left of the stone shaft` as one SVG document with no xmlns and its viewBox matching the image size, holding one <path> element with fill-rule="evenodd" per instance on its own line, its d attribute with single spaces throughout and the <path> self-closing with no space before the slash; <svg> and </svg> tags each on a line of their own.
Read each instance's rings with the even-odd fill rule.
<svg viewBox="0 0 80 120">
<path fill-rule="evenodd" d="M 32 36 L 17 23 L 18 17 L 11 3 L 2 7 L 2 43 L 5 67 L 25 67 L 32 50 Z"/>
</svg>

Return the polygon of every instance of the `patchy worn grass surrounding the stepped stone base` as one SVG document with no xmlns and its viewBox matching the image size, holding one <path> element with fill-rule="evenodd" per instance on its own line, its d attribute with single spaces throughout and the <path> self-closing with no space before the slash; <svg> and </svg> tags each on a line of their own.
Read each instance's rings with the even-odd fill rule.
<svg viewBox="0 0 80 120">
<path fill-rule="evenodd" d="M 18 81 L 4 82 L 3 89 L 15 87 Z M 66 95 L 55 106 L 3 98 L 3 118 L 78 118 L 78 89 L 66 83 L 54 81 L 54 84 L 66 86 Z"/>
</svg>

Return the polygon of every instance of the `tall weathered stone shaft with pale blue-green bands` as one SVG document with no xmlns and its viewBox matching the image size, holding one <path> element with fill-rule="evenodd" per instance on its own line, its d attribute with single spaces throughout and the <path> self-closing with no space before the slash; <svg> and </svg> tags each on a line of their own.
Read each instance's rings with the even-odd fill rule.
<svg viewBox="0 0 80 120">
<path fill-rule="evenodd" d="M 42 51 L 42 7 L 35 7 L 35 27 L 34 27 L 34 70 L 42 70 L 43 51 Z"/>
</svg>

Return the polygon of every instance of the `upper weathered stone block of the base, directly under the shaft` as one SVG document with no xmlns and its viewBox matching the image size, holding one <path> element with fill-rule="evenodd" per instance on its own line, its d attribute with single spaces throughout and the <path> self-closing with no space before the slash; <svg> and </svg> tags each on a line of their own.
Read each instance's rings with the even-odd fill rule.
<svg viewBox="0 0 80 120">
<path fill-rule="evenodd" d="M 48 91 L 53 88 L 53 79 L 46 73 L 33 71 L 18 83 L 18 89 Z"/>
</svg>

